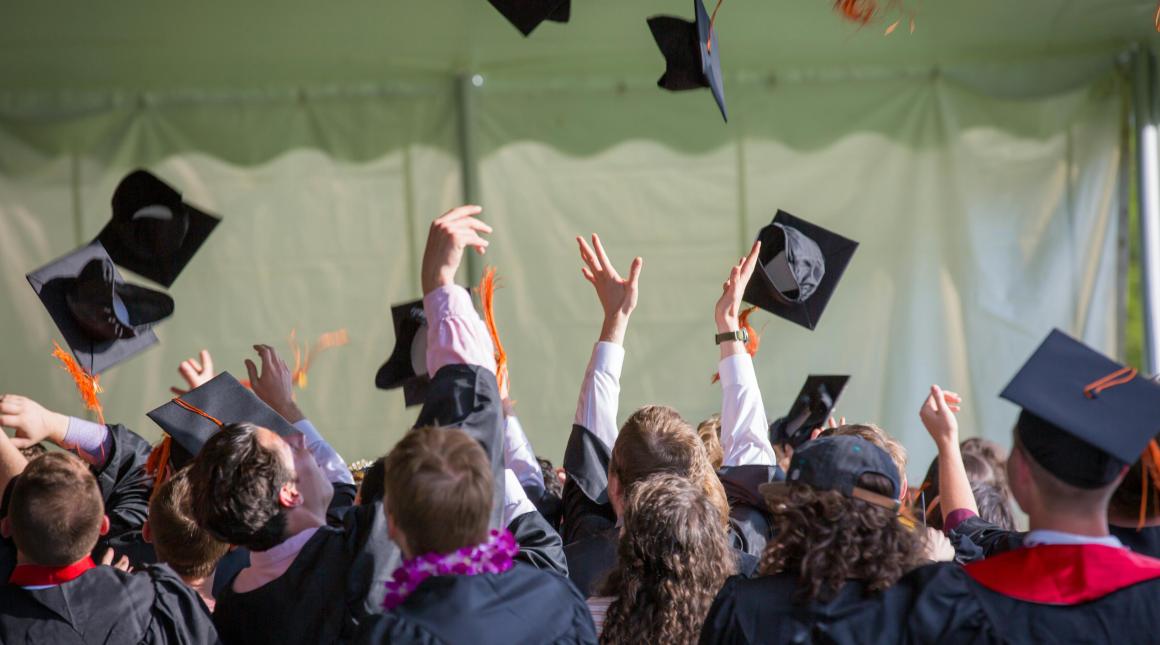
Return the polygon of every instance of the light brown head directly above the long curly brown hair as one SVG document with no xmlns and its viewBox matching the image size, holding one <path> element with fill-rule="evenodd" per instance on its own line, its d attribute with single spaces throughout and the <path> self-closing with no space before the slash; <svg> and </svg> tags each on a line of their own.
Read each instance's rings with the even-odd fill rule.
<svg viewBox="0 0 1160 645">
<path fill-rule="evenodd" d="M 709 463 L 701 439 L 672 407 L 648 405 L 632 413 L 616 437 L 608 470 L 621 483 L 625 498 L 632 486 L 650 476 L 687 477 L 728 516 L 725 488 Z"/>
</svg>

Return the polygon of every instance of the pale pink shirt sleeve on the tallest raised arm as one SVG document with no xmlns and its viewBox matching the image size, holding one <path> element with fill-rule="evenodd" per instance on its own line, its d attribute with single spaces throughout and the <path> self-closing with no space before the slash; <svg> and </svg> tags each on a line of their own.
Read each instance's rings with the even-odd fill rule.
<svg viewBox="0 0 1160 645">
<path fill-rule="evenodd" d="M 495 371 L 495 347 L 471 304 L 471 293 L 449 284 L 423 296 L 427 314 L 427 374 L 443 365 L 480 365 Z"/>
</svg>

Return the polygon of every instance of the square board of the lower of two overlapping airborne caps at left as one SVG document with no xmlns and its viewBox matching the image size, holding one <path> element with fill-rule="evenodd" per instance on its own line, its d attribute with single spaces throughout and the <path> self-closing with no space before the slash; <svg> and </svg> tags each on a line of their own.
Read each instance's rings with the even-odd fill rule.
<svg viewBox="0 0 1160 645">
<path fill-rule="evenodd" d="M 108 253 L 100 242 L 92 242 L 26 276 L 32 290 L 41 298 L 44 309 L 52 317 L 52 322 L 64 336 L 65 343 L 72 349 L 77 363 L 93 375 L 128 361 L 158 343 L 157 334 L 152 329 L 139 332 L 129 339 L 94 340 L 85 333 L 70 312 L 65 295 L 72 280 L 89 261 L 108 258 Z M 124 282 L 119 273 L 116 273 L 116 280 Z"/>
</svg>

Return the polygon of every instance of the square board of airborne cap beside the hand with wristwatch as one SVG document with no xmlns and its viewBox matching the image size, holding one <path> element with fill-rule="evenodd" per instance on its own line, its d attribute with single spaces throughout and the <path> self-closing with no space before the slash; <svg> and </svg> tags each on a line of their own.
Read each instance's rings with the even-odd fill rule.
<svg viewBox="0 0 1160 645">
<path fill-rule="evenodd" d="M 773 260 L 775 253 L 776 245 L 773 244 L 774 238 L 784 234 L 774 224 L 797 229 L 818 245 L 822 258 L 825 258 L 826 274 L 822 276 L 818 288 L 805 302 L 791 303 L 778 298 L 777 288 L 774 287 L 773 281 L 766 273 L 766 264 Z M 843 238 L 821 226 L 810 224 L 783 210 L 778 210 L 777 215 L 774 216 L 774 220 L 768 226 L 761 229 L 757 233 L 757 239 L 761 240 L 761 256 L 757 259 L 759 266 L 753 271 L 753 277 L 745 289 L 745 300 L 807 329 L 817 328 L 818 322 L 821 320 L 821 314 L 826 311 L 826 305 L 829 304 L 829 298 L 834 295 L 834 290 L 838 289 L 838 283 L 841 281 L 842 274 L 846 273 L 846 267 L 850 263 L 854 252 L 858 248 L 858 242 Z"/>
</svg>

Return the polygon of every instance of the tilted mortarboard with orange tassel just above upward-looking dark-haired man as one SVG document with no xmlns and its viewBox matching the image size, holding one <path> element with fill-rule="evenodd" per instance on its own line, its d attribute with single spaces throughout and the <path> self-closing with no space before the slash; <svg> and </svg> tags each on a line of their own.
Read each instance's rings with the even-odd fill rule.
<svg viewBox="0 0 1160 645">
<path fill-rule="evenodd" d="M 175 397 L 147 415 L 165 434 L 173 437 L 169 464 L 174 470 L 196 457 L 202 451 L 202 445 L 222 426 L 246 422 L 281 436 L 299 434 L 297 428 L 227 371 Z"/>
</svg>

